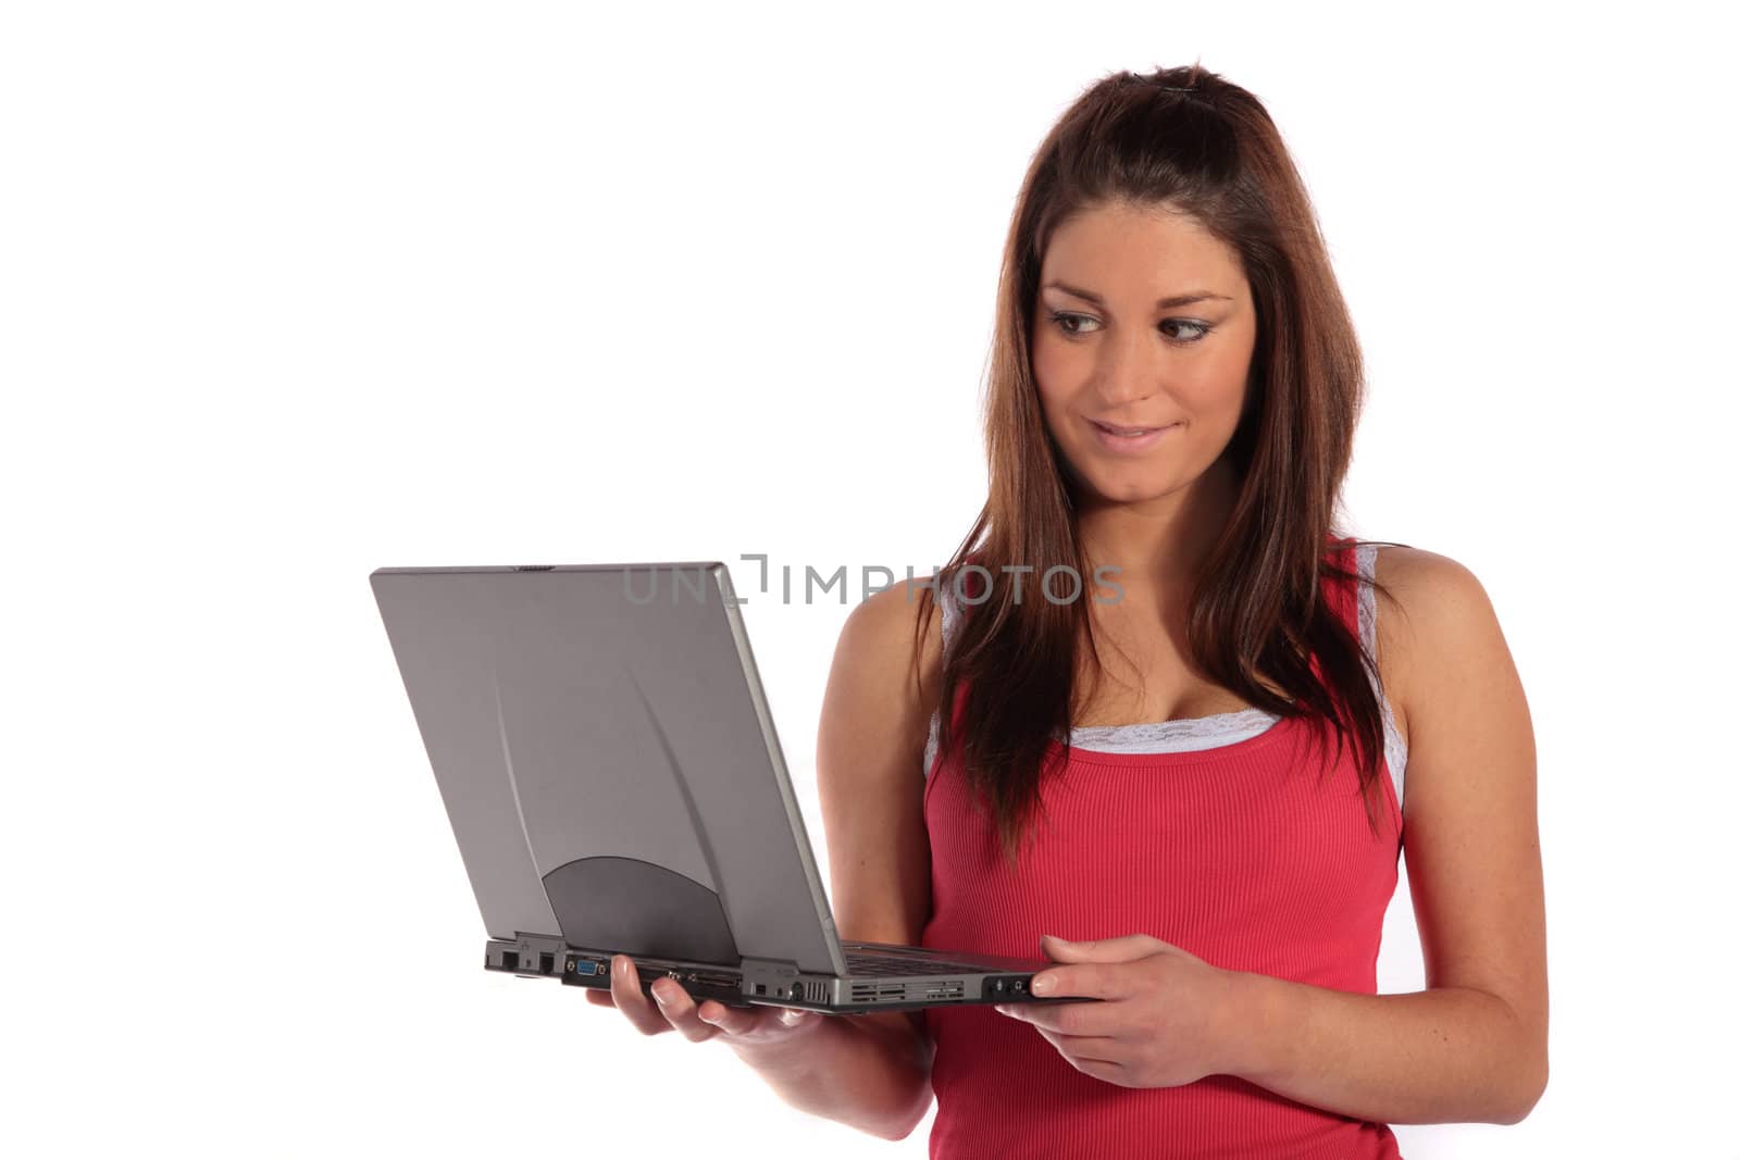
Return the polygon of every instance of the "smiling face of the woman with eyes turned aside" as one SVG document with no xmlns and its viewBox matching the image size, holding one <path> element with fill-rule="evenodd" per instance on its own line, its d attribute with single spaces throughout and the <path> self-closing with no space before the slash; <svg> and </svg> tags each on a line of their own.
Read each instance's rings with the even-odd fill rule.
<svg viewBox="0 0 1740 1160">
<path fill-rule="evenodd" d="M 1232 440 L 1256 311 L 1237 254 L 1194 219 L 1101 205 L 1065 221 L 1030 332 L 1046 424 L 1101 499 L 1187 487 Z"/>
</svg>

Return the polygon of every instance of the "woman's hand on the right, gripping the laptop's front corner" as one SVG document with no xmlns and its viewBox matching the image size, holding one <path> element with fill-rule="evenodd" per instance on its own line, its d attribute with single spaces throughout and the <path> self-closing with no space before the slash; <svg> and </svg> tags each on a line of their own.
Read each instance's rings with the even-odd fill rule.
<svg viewBox="0 0 1740 1160">
<path fill-rule="evenodd" d="M 1147 934 L 1088 943 L 1047 934 L 1041 948 L 1063 965 L 1034 976 L 1035 995 L 1103 1002 L 1006 1003 L 997 1010 L 1032 1023 L 1077 1071 L 1121 1087 L 1178 1087 L 1232 1073 L 1241 1049 L 1241 972 L 1211 967 Z"/>
</svg>

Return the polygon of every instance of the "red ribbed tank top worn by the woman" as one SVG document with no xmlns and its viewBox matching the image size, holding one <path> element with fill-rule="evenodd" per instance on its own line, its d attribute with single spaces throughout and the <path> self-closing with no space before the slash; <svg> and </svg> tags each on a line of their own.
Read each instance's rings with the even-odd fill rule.
<svg viewBox="0 0 1740 1160">
<path fill-rule="evenodd" d="M 1348 570 L 1352 548 L 1329 548 Z M 1357 633 L 1352 581 L 1331 579 L 1326 598 Z M 1216 967 L 1373 995 L 1401 809 L 1380 769 L 1387 821 L 1373 835 L 1347 746 L 1319 776 L 1331 757 L 1291 717 L 1209 750 L 1072 748 L 1061 774 L 1042 783 L 1046 821 L 1011 871 L 959 758 L 938 755 L 924 791 L 933 913 L 919 941 L 1044 958 L 1041 934 L 1143 932 Z M 1401 1155 L 1387 1125 L 1234 1077 L 1107 1083 L 988 1005 L 931 1007 L 926 1024 L 936 1042 L 933 1160 Z"/>
</svg>

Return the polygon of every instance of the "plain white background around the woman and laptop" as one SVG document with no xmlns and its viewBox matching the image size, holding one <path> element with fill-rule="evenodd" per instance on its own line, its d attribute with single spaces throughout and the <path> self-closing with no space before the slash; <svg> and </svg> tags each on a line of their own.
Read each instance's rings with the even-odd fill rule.
<svg viewBox="0 0 1740 1160">
<path fill-rule="evenodd" d="M 367 574 L 948 558 L 1032 150 L 1268 106 L 1369 360 L 1352 530 L 1529 694 L 1552 1082 L 1409 1160 L 1740 1157 L 1735 101 L 1688 7 L 5 5 L 0 1148 L 922 1157 L 485 976 Z M 755 598 L 826 857 L 839 595 Z M 1382 990 L 1422 986 L 1406 885 Z"/>
</svg>

